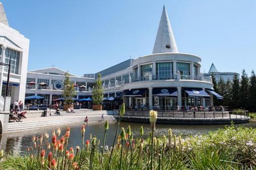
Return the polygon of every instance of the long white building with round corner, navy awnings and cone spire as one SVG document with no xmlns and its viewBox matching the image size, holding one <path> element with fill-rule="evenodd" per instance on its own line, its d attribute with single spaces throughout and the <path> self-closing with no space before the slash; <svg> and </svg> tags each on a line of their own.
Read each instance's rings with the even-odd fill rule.
<svg viewBox="0 0 256 170">
<path fill-rule="evenodd" d="M 222 96 L 213 91 L 211 77 L 204 77 L 200 68 L 200 57 L 178 51 L 166 9 L 163 7 L 152 54 L 123 61 L 95 75 L 73 75 L 71 80 L 78 85 L 77 99 L 92 95 L 93 83 L 97 74 L 101 74 L 105 98 L 112 96 L 130 108 L 170 110 L 177 106 L 212 106 L 214 96 L 219 99 Z M 55 83 L 63 82 L 64 72 L 56 75 L 50 72 L 57 71 L 57 68 L 48 70 L 28 72 L 27 83 L 34 81 L 37 85 L 33 88 L 28 86 L 26 95 L 48 95 L 51 103 L 57 98 L 53 95 L 62 93 L 62 89 L 56 88 Z M 41 82 L 49 86 L 42 88 Z M 81 90 L 82 84 L 84 87 Z"/>
</svg>

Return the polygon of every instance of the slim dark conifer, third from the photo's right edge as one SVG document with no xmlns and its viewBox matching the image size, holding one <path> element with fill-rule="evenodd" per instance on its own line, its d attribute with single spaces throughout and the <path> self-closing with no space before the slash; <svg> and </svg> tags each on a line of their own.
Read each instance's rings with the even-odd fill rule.
<svg viewBox="0 0 256 170">
<path fill-rule="evenodd" d="M 232 84 L 232 92 L 231 92 L 231 108 L 238 108 L 239 107 L 239 77 L 238 74 L 234 74 L 233 77 L 233 84 Z"/>
</svg>

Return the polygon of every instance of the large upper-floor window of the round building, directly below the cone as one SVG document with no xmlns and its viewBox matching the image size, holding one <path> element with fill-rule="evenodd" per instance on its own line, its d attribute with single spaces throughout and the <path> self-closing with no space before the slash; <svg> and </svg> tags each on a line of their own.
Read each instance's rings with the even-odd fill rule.
<svg viewBox="0 0 256 170">
<path fill-rule="evenodd" d="M 172 63 L 157 63 L 157 79 L 166 80 L 171 79 Z"/>
</svg>

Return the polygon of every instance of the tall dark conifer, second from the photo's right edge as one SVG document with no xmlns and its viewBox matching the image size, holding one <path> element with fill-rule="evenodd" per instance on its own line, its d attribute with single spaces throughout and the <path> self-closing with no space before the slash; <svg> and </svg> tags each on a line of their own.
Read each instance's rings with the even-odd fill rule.
<svg viewBox="0 0 256 170">
<path fill-rule="evenodd" d="M 239 103 L 240 107 L 243 109 L 248 108 L 248 98 L 249 98 L 249 79 L 245 72 L 245 69 L 242 70 L 242 76 L 241 76 L 241 86 L 239 90 Z"/>
</svg>

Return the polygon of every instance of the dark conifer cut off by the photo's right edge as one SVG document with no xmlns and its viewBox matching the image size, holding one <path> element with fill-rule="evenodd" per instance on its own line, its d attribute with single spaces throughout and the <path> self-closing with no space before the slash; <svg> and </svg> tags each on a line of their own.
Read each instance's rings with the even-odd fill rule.
<svg viewBox="0 0 256 170">
<path fill-rule="evenodd" d="M 254 70 L 251 71 L 250 77 L 248 110 L 251 112 L 256 112 L 256 75 Z"/>
</svg>

